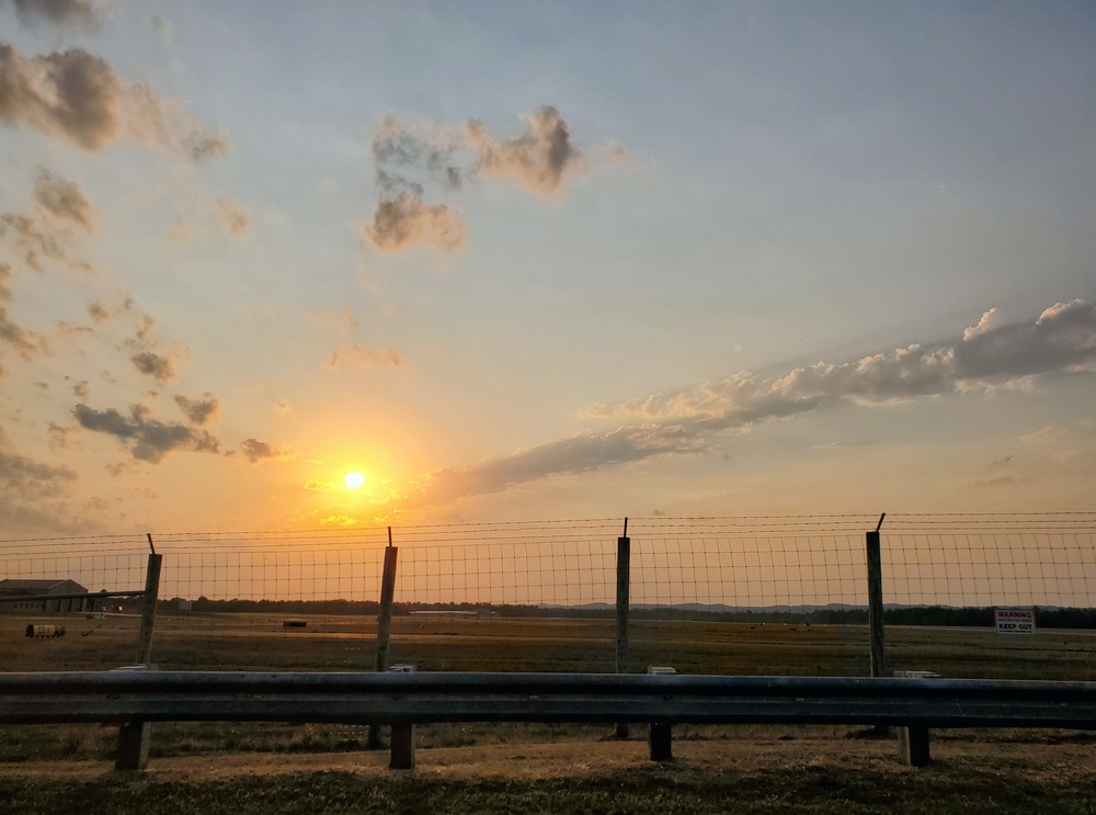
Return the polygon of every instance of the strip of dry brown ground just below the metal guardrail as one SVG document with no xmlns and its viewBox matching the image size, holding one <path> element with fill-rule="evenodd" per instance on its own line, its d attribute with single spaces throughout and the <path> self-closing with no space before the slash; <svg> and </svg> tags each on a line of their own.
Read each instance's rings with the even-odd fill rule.
<svg viewBox="0 0 1096 815">
<path fill-rule="evenodd" d="M 681 772 L 762 772 L 787 768 L 834 768 L 882 773 L 956 770 L 959 766 L 1008 769 L 1032 781 L 1096 774 L 1091 742 L 1032 744 L 977 742 L 944 737 L 933 740 L 933 767 L 915 769 L 898 760 L 893 738 L 795 737 L 674 743 L 670 767 Z M 387 750 L 326 754 L 233 752 L 201 757 L 157 758 L 146 771 L 152 781 L 208 782 L 241 777 L 273 777 L 339 770 L 376 778 L 413 772 L 447 780 L 534 780 L 593 778 L 626 768 L 649 767 L 647 743 L 567 742 L 419 748 L 412 771 L 388 769 Z M 109 761 L 35 761 L 0 766 L 0 776 L 58 781 L 89 781 L 113 772 Z"/>
</svg>

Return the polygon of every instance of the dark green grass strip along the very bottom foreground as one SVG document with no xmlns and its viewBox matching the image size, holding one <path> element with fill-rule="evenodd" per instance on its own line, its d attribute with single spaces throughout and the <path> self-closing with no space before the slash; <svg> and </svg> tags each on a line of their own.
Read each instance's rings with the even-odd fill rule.
<svg viewBox="0 0 1096 815">
<path fill-rule="evenodd" d="M 109 776 L 91 782 L 0 778 L 5 812 L 117 815 L 318 813 L 1093 813 L 1096 778 L 1040 782 L 958 762 L 880 773 L 815 766 L 740 773 L 650 767 L 595 778 L 453 781 L 318 772 L 208 783 Z"/>
</svg>

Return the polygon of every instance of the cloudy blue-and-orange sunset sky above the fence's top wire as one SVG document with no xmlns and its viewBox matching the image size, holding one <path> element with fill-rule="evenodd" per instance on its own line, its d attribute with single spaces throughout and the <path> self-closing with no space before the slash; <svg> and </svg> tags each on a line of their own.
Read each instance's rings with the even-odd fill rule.
<svg viewBox="0 0 1096 815">
<path fill-rule="evenodd" d="M 0 539 L 1092 510 L 1094 42 L 0 0 Z"/>
</svg>

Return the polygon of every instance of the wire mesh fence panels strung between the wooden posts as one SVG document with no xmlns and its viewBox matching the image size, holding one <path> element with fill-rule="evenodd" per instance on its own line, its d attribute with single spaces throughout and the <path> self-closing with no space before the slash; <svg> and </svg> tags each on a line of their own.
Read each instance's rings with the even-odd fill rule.
<svg viewBox="0 0 1096 815">
<path fill-rule="evenodd" d="M 672 649 L 675 636 L 699 636 L 694 630 L 644 629 L 640 623 L 652 615 L 731 626 L 765 613 L 784 614 L 779 619 L 788 622 L 824 610 L 863 611 L 868 602 L 865 532 L 878 522 L 875 514 L 630 519 L 636 658 L 672 656 L 665 649 L 643 652 L 644 642 Z M 206 653 L 186 663 L 193 667 L 367 668 L 384 553 L 391 542 L 398 547 L 395 661 L 445 669 L 549 664 L 552 669 L 612 670 L 624 533 L 624 519 L 590 519 L 157 534 L 156 551 L 163 555 L 160 608 L 167 615 L 158 630 L 179 643 L 190 636 L 190 647 Z M 883 599 L 891 609 L 1096 607 L 1096 513 L 892 514 L 881 541 Z M 144 535 L 0 541 L 0 601 L 25 593 L 26 581 L 37 581 L 36 590 L 69 580 L 89 592 L 139 590 L 148 551 Z M 137 603 L 117 601 L 112 608 L 118 618 L 100 634 L 113 629 L 123 641 L 129 636 Z M 16 612 L 13 603 L 0 602 L 0 619 L 14 621 Z M 198 616 L 210 612 L 236 616 L 216 622 Z M 271 647 L 256 647 L 247 658 L 232 647 L 246 635 L 285 635 L 287 614 L 312 615 L 308 635 L 330 642 L 320 647 L 319 639 L 311 641 L 308 659 L 275 657 L 272 639 Z M 515 618 L 524 621 L 522 627 L 501 622 Z M 18 631 L 15 622 L 8 629 Z M 740 626 L 703 638 L 722 647 L 758 636 Z M 859 635 L 842 636 L 842 642 L 852 636 L 859 643 Z M 212 644 L 218 637 L 228 637 L 224 647 Z M 798 645 L 834 642 L 815 636 Z M 161 654 L 163 647 L 161 642 Z M 528 652 L 524 660 L 509 659 L 522 648 Z M 115 653 L 104 659 L 115 659 Z M 21 668 L 9 663 L 9 669 Z M 831 666 L 818 661 L 814 668 Z"/>
</svg>

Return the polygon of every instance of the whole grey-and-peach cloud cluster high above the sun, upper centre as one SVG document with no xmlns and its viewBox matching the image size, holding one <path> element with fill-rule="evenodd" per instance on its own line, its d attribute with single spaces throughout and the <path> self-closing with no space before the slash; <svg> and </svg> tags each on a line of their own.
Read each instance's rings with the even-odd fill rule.
<svg viewBox="0 0 1096 815">
<path fill-rule="evenodd" d="M 427 191 L 456 191 L 468 179 L 500 179 L 555 196 L 591 167 L 558 110 L 545 105 L 525 120 L 523 133 L 498 138 L 471 120 L 407 124 L 386 116 L 372 145 L 380 197 L 373 219 L 358 227 L 363 241 L 385 252 L 412 247 L 452 252 L 467 244 L 464 217 L 444 203 L 427 204 Z M 620 163 L 624 150 L 614 146 L 606 155 L 600 163 Z"/>
</svg>

